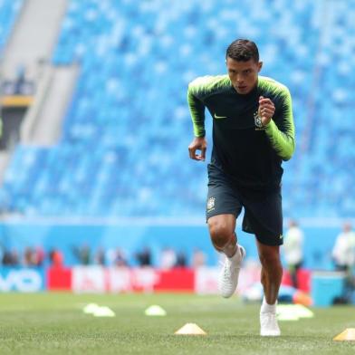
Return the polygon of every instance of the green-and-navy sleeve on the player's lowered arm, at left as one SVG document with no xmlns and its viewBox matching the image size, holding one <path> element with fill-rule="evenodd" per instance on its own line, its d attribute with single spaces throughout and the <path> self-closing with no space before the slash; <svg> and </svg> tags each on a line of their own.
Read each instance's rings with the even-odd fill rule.
<svg viewBox="0 0 355 355">
<path fill-rule="evenodd" d="M 205 104 L 198 97 L 197 81 L 190 82 L 188 85 L 187 103 L 194 126 L 195 137 L 205 137 Z"/>
</svg>

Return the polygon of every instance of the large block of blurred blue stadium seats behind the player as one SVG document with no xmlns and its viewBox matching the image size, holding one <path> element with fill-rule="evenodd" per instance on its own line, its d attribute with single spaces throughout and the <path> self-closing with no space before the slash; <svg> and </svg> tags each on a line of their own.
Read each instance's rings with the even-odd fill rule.
<svg viewBox="0 0 355 355">
<path fill-rule="evenodd" d="M 56 65 L 81 66 L 62 139 L 14 150 L 1 209 L 201 216 L 206 167 L 187 156 L 187 83 L 225 72 L 226 45 L 247 37 L 259 45 L 262 74 L 293 94 L 297 150 L 284 164 L 284 215 L 353 216 L 354 3 L 72 0 L 53 53 Z"/>
</svg>

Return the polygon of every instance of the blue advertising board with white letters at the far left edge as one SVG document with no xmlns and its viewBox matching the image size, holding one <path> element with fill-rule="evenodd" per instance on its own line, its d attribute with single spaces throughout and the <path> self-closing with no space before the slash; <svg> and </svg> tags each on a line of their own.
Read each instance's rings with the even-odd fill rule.
<svg viewBox="0 0 355 355">
<path fill-rule="evenodd" d="M 43 268 L 0 269 L 0 292 L 37 293 L 43 291 Z"/>
</svg>

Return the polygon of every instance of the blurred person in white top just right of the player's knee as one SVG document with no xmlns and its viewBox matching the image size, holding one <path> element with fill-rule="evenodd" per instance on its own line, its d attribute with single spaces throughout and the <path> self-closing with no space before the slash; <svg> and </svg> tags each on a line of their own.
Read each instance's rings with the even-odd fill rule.
<svg viewBox="0 0 355 355">
<path fill-rule="evenodd" d="M 294 220 L 290 220 L 284 235 L 283 251 L 293 287 L 298 288 L 297 271 L 303 263 L 303 232 Z"/>
</svg>

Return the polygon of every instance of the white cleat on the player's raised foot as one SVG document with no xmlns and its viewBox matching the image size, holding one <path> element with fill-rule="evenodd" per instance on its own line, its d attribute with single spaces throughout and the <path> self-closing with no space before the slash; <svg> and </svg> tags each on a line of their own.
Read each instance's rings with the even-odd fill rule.
<svg viewBox="0 0 355 355">
<path fill-rule="evenodd" d="M 244 258 L 245 248 L 241 245 L 238 245 L 238 250 L 232 258 L 225 257 L 225 264 L 218 280 L 218 289 L 223 297 L 228 298 L 235 293 L 240 267 Z"/>
</svg>

